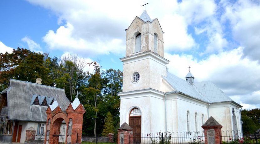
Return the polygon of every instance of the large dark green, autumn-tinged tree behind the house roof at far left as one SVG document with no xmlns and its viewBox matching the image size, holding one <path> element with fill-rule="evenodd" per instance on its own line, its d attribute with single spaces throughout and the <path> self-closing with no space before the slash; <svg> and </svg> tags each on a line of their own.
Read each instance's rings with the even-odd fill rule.
<svg viewBox="0 0 260 144">
<path fill-rule="evenodd" d="M 13 49 L 13 53 L 0 53 L 0 91 L 8 84 L 10 78 L 28 82 L 36 82 L 42 78 L 43 85 L 50 85 L 51 71 L 44 65 L 44 54 L 28 49 Z"/>
</svg>

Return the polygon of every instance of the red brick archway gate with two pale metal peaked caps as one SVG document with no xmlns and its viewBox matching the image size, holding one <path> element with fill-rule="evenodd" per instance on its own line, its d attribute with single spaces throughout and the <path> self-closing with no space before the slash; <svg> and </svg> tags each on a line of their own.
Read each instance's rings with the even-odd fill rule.
<svg viewBox="0 0 260 144">
<path fill-rule="evenodd" d="M 46 110 L 47 123 L 44 144 L 81 143 L 83 114 L 85 112 L 77 97 L 66 110 L 62 110 L 55 100 Z"/>
</svg>

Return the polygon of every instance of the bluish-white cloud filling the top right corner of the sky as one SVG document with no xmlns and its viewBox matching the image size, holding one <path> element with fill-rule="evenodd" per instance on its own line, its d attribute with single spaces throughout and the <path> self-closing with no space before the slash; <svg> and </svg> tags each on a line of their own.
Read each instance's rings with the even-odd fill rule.
<svg viewBox="0 0 260 144">
<path fill-rule="evenodd" d="M 234 39 L 245 47 L 244 55 L 260 61 L 260 3 L 238 0 L 224 4 L 225 14 L 221 21 L 231 23 Z"/>
</svg>

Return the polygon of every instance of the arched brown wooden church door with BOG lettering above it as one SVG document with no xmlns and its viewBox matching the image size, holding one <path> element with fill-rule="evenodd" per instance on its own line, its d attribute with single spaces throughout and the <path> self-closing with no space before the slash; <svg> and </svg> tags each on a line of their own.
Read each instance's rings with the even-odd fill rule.
<svg viewBox="0 0 260 144">
<path fill-rule="evenodd" d="M 129 126 L 133 128 L 133 143 L 141 143 L 142 116 L 138 108 L 133 108 L 129 116 Z"/>
</svg>

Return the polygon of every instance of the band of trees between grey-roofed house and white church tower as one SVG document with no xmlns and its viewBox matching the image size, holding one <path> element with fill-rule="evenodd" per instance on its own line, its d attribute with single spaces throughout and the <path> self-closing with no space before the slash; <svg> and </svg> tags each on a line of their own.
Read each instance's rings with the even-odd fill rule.
<svg viewBox="0 0 260 144">
<path fill-rule="evenodd" d="M 36 82 L 65 90 L 69 100 L 74 100 L 76 91 L 86 109 L 83 118 L 83 134 L 100 135 L 106 123 L 106 116 L 112 117 L 110 132 L 116 134 L 119 127 L 120 97 L 122 76 L 120 70 L 101 70 L 98 62 L 91 62 L 94 72 L 84 72 L 83 59 L 74 54 L 62 58 L 49 57 L 49 54 L 35 53 L 28 49 L 13 49 L 13 53 L 0 53 L 0 91 L 9 79 Z M 108 111 L 110 114 L 108 114 Z M 109 118 L 110 120 L 110 118 Z M 111 124 L 110 123 L 110 124 Z"/>
</svg>

